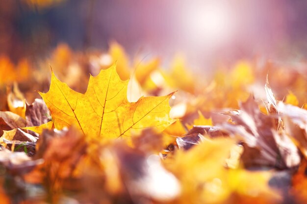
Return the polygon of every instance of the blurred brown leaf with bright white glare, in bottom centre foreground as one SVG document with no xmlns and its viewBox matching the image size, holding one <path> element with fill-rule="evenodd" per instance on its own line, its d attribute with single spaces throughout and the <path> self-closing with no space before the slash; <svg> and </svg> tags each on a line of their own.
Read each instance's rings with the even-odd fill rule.
<svg viewBox="0 0 307 204">
<path fill-rule="evenodd" d="M 159 156 L 120 143 L 114 148 L 111 152 L 119 161 L 120 173 L 131 196 L 160 202 L 172 201 L 179 196 L 179 181 L 162 166 Z"/>
</svg>

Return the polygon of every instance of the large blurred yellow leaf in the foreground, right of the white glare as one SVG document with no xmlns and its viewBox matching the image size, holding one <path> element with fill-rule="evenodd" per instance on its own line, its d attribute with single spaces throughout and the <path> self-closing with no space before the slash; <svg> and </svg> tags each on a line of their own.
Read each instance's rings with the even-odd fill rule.
<svg viewBox="0 0 307 204">
<path fill-rule="evenodd" d="M 280 196 L 268 185 L 272 172 L 248 171 L 237 165 L 236 169 L 225 168 L 235 146 L 235 140 L 230 138 L 206 139 L 163 160 L 164 166 L 181 182 L 176 203 L 277 203 Z M 231 202 L 234 195 L 235 201 L 241 202 Z"/>
</svg>

